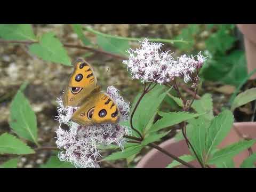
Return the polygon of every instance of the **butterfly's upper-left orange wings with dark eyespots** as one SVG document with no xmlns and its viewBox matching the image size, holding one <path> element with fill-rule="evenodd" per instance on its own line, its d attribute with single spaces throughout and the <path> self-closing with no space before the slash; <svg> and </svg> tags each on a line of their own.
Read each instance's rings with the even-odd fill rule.
<svg viewBox="0 0 256 192">
<path fill-rule="evenodd" d="M 63 94 L 63 105 L 77 107 L 93 90 L 99 90 L 94 72 L 84 59 L 78 58 Z"/>
</svg>

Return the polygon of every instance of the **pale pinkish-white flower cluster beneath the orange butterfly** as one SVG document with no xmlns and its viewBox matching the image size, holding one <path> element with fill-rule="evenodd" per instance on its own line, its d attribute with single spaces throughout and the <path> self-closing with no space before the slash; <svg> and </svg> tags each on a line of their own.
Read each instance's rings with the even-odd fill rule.
<svg viewBox="0 0 256 192">
<path fill-rule="evenodd" d="M 121 113 L 121 121 L 128 119 L 130 110 L 129 103 L 119 95 L 114 86 L 107 89 L 107 93 L 114 99 Z M 119 124 L 102 124 L 93 126 L 81 126 L 70 120 L 77 108 L 63 107 L 62 99 L 57 100 L 58 121 L 60 123 L 57 133 L 57 147 L 61 149 L 58 157 L 61 161 L 73 163 L 76 167 L 99 167 L 97 163 L 100 155 L 98 147 L 100 145 L 118 145 L 123 149 L 125 139 L 124 134 L 129 135 L 130 130 L 126 126 Z M 61 124 L 66 124 L 69 130 L 63 130 Z"/>
</svg>

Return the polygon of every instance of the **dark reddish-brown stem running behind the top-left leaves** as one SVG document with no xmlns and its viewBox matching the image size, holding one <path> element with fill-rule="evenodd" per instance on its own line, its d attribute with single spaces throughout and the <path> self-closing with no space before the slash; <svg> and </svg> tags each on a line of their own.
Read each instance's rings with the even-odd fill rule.
<svg viewBox="0 0 256 192">
<path fill-rule="evenodd" d="M 7 41 L 7 40 L 4 40 L 4 39 L 0 39 L 0 43 L 17 43 L 17 44 L 30 45 L 30 44 L 33 44 L 33 43 L 38 43 L 38 41 Z M 107 51 L 97 50 L 97 49 L 94 49 L 94 48 L 89 47 L 89 46 L 71 45 L 71 44 L 66 44 L 66 43 L 63 43 L 63 46 L 69 47 L 69 48 L 88 50 L 88 51 L 92 51 L 92 52 L 95 52 L 95 53 L 101 53 L 101 54 L 105 54 L 105 55 L 108 55 L 108 56 L 111 56 L 111 57 L 114 57 L 114 58 L 117 58 L 117 59 L 122 59 L 122 60 L 127 59 L 126 57 L 124 57 L 122 55 L 117 55 L 117 54 L 109 53 Z"/>
</svg>

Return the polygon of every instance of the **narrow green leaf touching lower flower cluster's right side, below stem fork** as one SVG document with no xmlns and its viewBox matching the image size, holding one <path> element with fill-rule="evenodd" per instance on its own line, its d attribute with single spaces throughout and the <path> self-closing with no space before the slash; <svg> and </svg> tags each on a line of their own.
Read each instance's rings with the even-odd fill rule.
<svg viewBox="0 0 256 192">
<path fill-rule="evenodd" d="M 115 152 L 115 153 L 105 157 L 104 160 L 109 161 L 109 160 L 127 158 L 134 154 L 138 154 L 142 148 L 143 148 L 143 146 L 141 146 L 141 145 L 135 145 L 133 147 L 126 148 L 123 151 Z"/>
</svg>

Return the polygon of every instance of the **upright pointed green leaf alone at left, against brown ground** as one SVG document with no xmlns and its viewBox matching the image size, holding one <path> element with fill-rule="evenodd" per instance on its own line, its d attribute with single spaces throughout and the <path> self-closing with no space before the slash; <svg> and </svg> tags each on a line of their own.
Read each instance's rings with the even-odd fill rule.
<svg viewBox="0 0 256 192">
<path fill-rule="evenodd" d="M 36 115 L 21 90 L 17 92 L 12 100 L 9 124 L 19 137 L 28 139 L 38 145 Z"/>
</svg>

